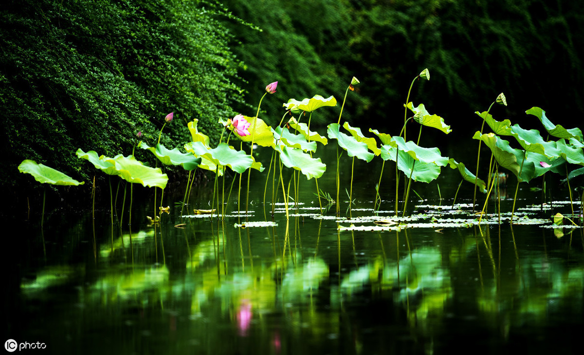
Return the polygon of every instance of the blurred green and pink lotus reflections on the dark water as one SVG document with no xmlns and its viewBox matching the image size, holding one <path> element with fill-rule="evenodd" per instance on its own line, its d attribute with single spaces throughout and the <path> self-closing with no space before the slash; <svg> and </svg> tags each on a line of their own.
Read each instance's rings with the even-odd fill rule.
<svg viewBox="0 0 584 355">
<path fill-rule="evenodd" d="M 96 262 L 92 248 L 60 260 L 48 248 L 46 266 L 27 267 L 11 291 L 19 317 L 45 321 L 13 316 L 13 337 L 63 352 L 371 354 L 446 351 L 463 336 L 490 344 L 484 352 L 530 339 L 537 352 L 582 329 L 582 246 L 553 231 L 340 232 L 334 220 L 302 217 L 244 229 L 234 220 L 165 215 L 113 243 L 98 233 Z"/>
</svg>

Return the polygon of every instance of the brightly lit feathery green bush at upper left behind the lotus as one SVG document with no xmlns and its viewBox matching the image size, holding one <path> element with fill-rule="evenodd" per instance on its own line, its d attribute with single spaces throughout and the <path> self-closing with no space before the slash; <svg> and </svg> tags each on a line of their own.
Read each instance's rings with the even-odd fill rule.
<svg viewBox="0 0 584 355">
<path fill-rule="evenodd" d="M 198 1 L 9 1 L 0 9 L 2 186 L 22 179 L 23 159 L 87 179 L 77 148 L 130 154 L 135 134 L 166 147 L 190 140 L 186 121 L 217 137 L 217 119 L 240 102 L 241 63 Z M 140 149 L 141 150 L 141 149 Z M 137 153 L 138 154 L 138 153 Z"/>
</svg>

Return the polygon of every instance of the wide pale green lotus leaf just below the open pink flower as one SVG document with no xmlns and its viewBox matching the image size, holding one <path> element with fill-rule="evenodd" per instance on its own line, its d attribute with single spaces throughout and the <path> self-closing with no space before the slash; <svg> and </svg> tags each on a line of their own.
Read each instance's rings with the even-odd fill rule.
<svg viewBox="0 0 584 355">
<path fill-rule="evenodd" d="M 187 145 L 189 145 L 188 148 Z M 263 171 L 264 169 L 262 163 L 256 162 L 255 159 L 244 151 L 237 151 L 227 143 L 221 143 L 217 148 L 207 149 L 202 142 L 189 142 L 185 145 L 185 149 L 189 150 L 196 156 L 206 158 L 215 166 L 229 166 L 237 173 L 242 173 L 249 168 L 259 171 Z"/>
</svg>

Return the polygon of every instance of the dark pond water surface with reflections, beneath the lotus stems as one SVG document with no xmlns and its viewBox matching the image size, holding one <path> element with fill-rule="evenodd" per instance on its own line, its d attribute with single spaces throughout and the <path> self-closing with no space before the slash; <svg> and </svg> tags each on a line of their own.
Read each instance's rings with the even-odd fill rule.
<svg viewBox="0 0 584 355">
<path fill-rule="evenodd" d="M 211 208 L 211 183 L 182 213 L 174 203 L 183 192 L 166 194 L 171 211 L 160 225 L 148 226 L 152 202 L 133 207 L 131 226 L 112 227 L 107 200 L 95 220 L 91 208 L 53 211 L 41 230 L 32 215 L 5 235 L 6 339 L 88 354 L 580 353 L 582 229 L 551 228 L 550 219 L 570 213 L 566 190 L 550 183 L 557 200 L 541 207 L 526 185 L 516 213 L 526 224 L 489 224 L 493 215 L 478 225 L 472 186 L 463 184 L 453 209 L 460 176 L 443 168 L 437 183 L 414 186 L 424 201 L 411 198 L 408 214 L 418 220 L 371 230 L 394 215 L 393 165 L 373 213 L 381 164 L 355 163 L 349 213 L 351 161 L 342 163 L 340 219 L 335 205 L 320 214 L 314 180 L 304 178 L 303 204 L 289 220 L 280 204 L 272 218 L 265 173 L 252 175 L 248 217 L 238 217 L 237 182 L 224 220 L 192 215 Z M 319 179 L 331 194 L 334 166 Z M 250 223 L 258 221 L 270 224 Z"/>
</svg>

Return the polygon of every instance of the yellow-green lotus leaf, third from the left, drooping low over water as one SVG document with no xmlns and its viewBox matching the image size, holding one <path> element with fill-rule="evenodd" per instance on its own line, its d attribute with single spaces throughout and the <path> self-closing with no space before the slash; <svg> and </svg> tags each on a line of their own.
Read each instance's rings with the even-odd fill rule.
<svg viewBox="0 0 584 355">
<path fill-rule="evenodd" d="M 122 179 L 131 183 L 139 183 L 142 186 L 160 187 L 164 189 L 168 182 L 168 176 L 162 173 L 159 168 L 145 166 L 141 161 L 136 160 L 133 155 L 123 156 L 118 154 L 113 158 L 105 158 L 106 162 L 116 165 L 116 169 Z"/>
</svg>

